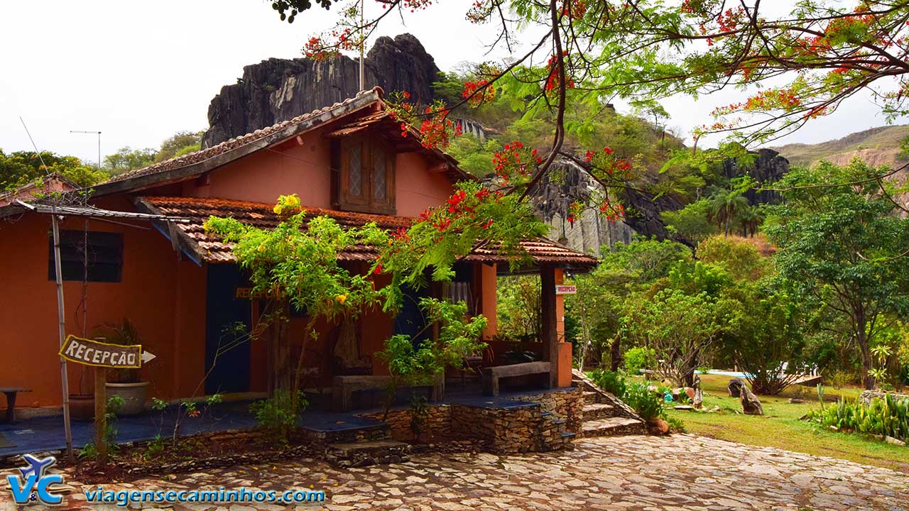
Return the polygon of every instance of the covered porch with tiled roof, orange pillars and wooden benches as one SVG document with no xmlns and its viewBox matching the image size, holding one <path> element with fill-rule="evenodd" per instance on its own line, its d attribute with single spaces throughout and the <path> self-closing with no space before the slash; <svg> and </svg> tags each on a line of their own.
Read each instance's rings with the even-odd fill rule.
<svg viewBox="0 0 909 511">
<path fill-rule="evenodd" d="M 215 338 L 236 315 L 243 316 L 248 326 L 255 326 L 262 314 L 263 296 L 253 296 L 244 282 L 239 268 L 234 264 L 230 246 L 209 237 L 202 225 L 209 216 L 232 216 L 241 222 L 268 227 L 280 221 L 272 205 L 204 197 L 145 196 L 136 199 L 140 209 L 159 215 L 189 218 L 182 225 L 165 224 L 159 232 L 167 236 L 178 255 L 188 256 L 207 268 L 209 307 L 206 318 L 206 337 Z M 412 219 L 391 215 L 369 215 L 352 212 L 304 209 L 311 215 L 329 215 L 342 225 L 364 225 L 375 222 L 386 228 L 410 225 Z M 589 255 L 574 252 L 545 238 L 527 240 L 523 244 L 530 255 L 529 262 L 519 271 L 538 275 L 541 300 L 539 332 L 533 338 L 519 342 L 497 336 L 496 286 L 497 279 L 512 270 L 509 258 L 500 254 L 495 245 L 483 245 L 466 255 L 454 268 L 455 277 L 450 283 L 435 283 L 423 289 L 407 290 L 405 306 L 397 316 L 379 310 L 367 311 L 354 322 L 338 322 L 318 326 L 319 338 L 306 346 L 305 376 L 303 386 L 314 407 L 323 410 L 350 411 L 375 406 L 377 399 L 385 399 L 389 373 L 387 366 L 377 356 L 385 339 L 395 334 L 411 334 L 425 329 L 425 318 L 415 306 L 422 296 L 463 300 L 469 315 L 482 314 L 488 320 L 483 340 L 487 348 L 483 353 L 464 359 L 464 366 L 450 367 L 434 386 L 416 389 L 432 402 L 441 402 L 447 396 L 496 396 L 499 393 L 523 392 L 565 388 L 571 386 L 572 345 L 565 342 L 563 296 L 556 287 L 564 284 L 567 271 L 585 271 L 597 264 Z M 341 257 L 341 262 L 352 271 L 365 273 L 375 260 L 375 251 L 368 246 L 353 246 Z M 386 284 L 384 276 L 375 277 L 376 286 Z M 214 289 L 213 286 L 217 287 Z M 232 313 L 233 314 L 233 313 Z M 289 339 L 302 327 L 305 316 L 290 319 Z M 428 329 L 430 336 L 432 329 Z M 260 346 L 256 344 L 260 343 Z M 269 368 L 260 339 L 250 339 L 251 347 L 241 348 L 248 354 L 248 367 L 229 366 L 230 380 L 238 372 L 248 371 L 248 387 L 232 388 L 233 392 L 267 391 L 265 375 Z M 258 352 L 258 353 L 256 353 Z M 515 357 L 515 353 L 533 354 L 530 359 Z M 296 354 L 299 354 L 299 346 Z M 210 356 L 206 356 L 210 363 Z M 242 364 L 242 362 L 241 362 Z M 206 367 L 207 369 L 207 367 Z M 215 377 L 218 375 L 215 373 Z M 223 378 L 222 378 L 223 379 Z M 205 393 L 223 391 L 221 382 L 206 382 Z M 399 393 L 396 402 L 403 404 L 414 389 Z"/>
</svg>

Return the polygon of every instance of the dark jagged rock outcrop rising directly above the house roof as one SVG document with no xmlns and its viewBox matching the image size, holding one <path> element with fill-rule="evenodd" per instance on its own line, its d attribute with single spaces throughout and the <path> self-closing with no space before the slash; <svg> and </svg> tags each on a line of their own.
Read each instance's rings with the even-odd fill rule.
<svg viewBox="0 0 909 511">
<path fill-rule="evenodd" d="M 420 103 L 433 99 L 439 68 L 413 35 L 379 37 L 365 58 L 365 88 L 407 91 Z M 312 112 L 354 96 L 359 64 L 339 56 L 316 62 L 307 58 L 270 58 L 247 65 L 237 83 L 225 85 L 208 105 L 208 130 L 202 146 L 224 142 L 256 129 Z"/>
</svg>

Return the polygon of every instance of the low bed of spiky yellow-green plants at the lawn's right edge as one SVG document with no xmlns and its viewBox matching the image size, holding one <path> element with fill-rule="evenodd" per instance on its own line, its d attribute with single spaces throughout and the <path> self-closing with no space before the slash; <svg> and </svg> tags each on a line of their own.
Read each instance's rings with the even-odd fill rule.
<svg viewBox="0 0 909 511">
<path fill-rule="evenodd" d="M 888 394 L 884 399 L 875 397 L 867 405 L 858 400 L 851 403 L 841 400 L 835 406 L 809 411 L 807 420 L 824 427 L 905 441 L 909 440 L 909 399 Z"/>
</svg>

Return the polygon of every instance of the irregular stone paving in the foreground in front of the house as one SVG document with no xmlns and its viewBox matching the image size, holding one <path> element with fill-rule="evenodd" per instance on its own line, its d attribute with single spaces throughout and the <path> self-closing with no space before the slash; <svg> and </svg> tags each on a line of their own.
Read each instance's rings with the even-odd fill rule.
<svg viewBox="0 0 909 511">
<path fill-rule="evenodd" d="M 325 506 L 297 506 L 296 509 L 339 511 L 909 511 L 909 475 L 885 468 L 693 435 L 591 438 L 578 440 L 575 446 L 574 451 L 526 456 L 426 454 L 413 456 L 406 464 L 347 470 L 301 460 L 283 466 L 235 467 L 176 476 L 173 483 L 143 479 L 129 485 L 106 487 L 205 486 L 215 489 L 219 486 L 252 486 L 284 490 L 312 486 L 326 491 Z M 86 506 L 79 497 L 81 495 L 74 493 L 63 508 L 117 509 L 114 506 Z M 15 509 L 5 488 L 0 489 L 0 501 L 0 509 Z M 220 507 L 218 511 L 295 508 L 252 506 L 232 505 Z M 165 508 L 216 509 L 206 504 Z"/>
</svg>

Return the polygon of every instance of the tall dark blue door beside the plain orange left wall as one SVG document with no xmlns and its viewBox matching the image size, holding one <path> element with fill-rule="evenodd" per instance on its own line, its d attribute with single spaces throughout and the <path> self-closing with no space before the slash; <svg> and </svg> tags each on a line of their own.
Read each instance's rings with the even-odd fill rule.
<svg viewBox="0 0 909 511">
<path fill-rule="evenodd" d="M 249 342 L 252 302 L 237 298 L 249 281 L 236 265 L 209 265 L 205 298 L 205 394 L 249 390 Z M 214 367 L 213 367 L 214 365 Z"/>
</svg>

